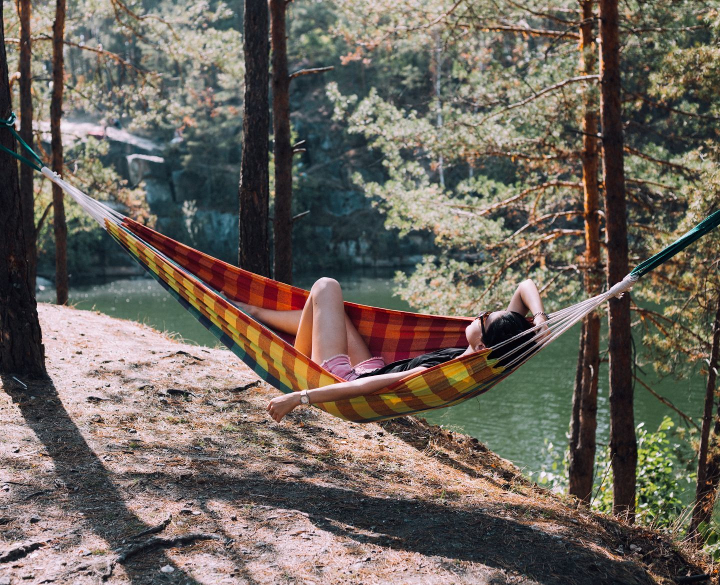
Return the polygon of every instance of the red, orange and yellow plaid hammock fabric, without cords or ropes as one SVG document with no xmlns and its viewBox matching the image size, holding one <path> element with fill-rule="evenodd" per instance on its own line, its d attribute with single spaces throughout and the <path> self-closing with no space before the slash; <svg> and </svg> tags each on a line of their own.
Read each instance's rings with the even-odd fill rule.
<svg viewBox="0 0 720 585">
<path fill-rule="evenodd" d="M 232 301 L 279 311 L 302 309 L 307 290 L 276 282 L 202 254 L 129 218 L 105 219 L 108 233 L 187 311 L 253 372 L 282 392 L 341 382 Z M 472 318 L 422 315 L 345 303 L 346 313 L 372 355 L 386 362 L 467 344 Z M 354 422 L 372 422 L 452 406 L 490 390 L 509 372 L 495 367 L 489 349 L 456 358 L 367 396 L 315 403 Z"/>
</svg>

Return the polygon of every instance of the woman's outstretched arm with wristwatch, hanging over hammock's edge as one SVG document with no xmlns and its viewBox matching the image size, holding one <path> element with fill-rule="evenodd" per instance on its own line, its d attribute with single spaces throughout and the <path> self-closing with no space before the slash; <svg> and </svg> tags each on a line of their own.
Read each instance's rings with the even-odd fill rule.
<svg viewBox="0 0 720 585">
<path fill-rule="evenodd" d="M 394 384 L 398 380 L 402 380 L 409 375 L 426 370 L 425 367 L 418 366 L 413 370 L 406 372 L 395 372 L 392 374 L 380 374 L 377 376 L 369 376 L 367 378 L 359 378 L 352 382 L 339 382 L 330 384 L 322 388 L 313 388 L 307 390 L 307 396 L 310 398 L 310 404 L 316 402 L 331 402 L 342 400 L 343 398 L 354 398 L 355 396 L 364 396 L 372 394 L 376 390 L 382 390 L 387 386 Z M 276 421 L 280 421 L 283 416 L 292 411 L 296 406 L 300 406 L 300 392 L 292 392 L 283 396 L 276 396 L 267 406 L 270 416 Z"/>
</svg>

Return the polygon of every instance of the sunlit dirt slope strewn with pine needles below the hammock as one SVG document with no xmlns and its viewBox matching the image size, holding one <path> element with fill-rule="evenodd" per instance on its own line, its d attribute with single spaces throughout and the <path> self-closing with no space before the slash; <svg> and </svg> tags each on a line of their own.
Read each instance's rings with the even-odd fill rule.
<svg viewBox="0 0 720 585">
<path fill-rule="evenodd" d="M 39 312 L 50 380 L 1 378 L 0 585 L 711 582 L 476 439 L 315 408 L 277 424 L 225 349 Z"/>
</svg>

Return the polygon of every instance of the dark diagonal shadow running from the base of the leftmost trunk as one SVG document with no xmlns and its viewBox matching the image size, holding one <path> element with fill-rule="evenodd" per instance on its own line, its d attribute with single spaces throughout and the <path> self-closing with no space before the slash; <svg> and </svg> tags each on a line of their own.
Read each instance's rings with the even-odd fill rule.
<svg viewBox="0 0 720 585">
<path fill-rule="evenodd" d="M 84 527 L 104 539 L 111 550 L 125 548 L 127 543 L 124 540 L 150 527 L 125 505 L 122 494 L 114 486 L 115 474 L 104 467 L 102 460 L 87 444 L 64 408 L 53 380 L 30 380 L 27 388 L 22 388 L 11 376 L 0 375 L 0 380 L 27 426 L 53 459 L 55 486 L 58 491 L 65 491 L 65 497 L 60 494 L 55 496 L 58 505 L 68 511 L 84 514 L 81 520 Z M 31 396 L 35 399 L 31 399 Z M 152 568 L 148 567 L 149 564 Z M 136 584 L 148 583 L 148 572 L 156 573 L 150 578 L 153 582 L 155 579 L 163 582 L 165 576 L 157 571 L 166 565 L 175 568 L 171 577 L 174 583 L 199 585 L 161 549 L 147 550 L 142 557 L 138 555 L 122 563 L 127 579 Z M 109 576 L 111 567 L 109 561 L 107 567 L 100 568 L 104 579 Z M 73 570 L 71 563 L 68 563 L 67 569 L 68 573 Z M 73 579 L 70 574 L 66 577 Z M 253 583 L 252 579 L 246 579 Z"/>
</svg>

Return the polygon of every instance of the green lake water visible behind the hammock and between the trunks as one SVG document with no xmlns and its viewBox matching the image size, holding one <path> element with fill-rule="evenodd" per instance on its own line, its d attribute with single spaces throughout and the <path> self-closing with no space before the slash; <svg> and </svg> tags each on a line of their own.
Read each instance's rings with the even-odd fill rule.
<svg viewBox="0 0 720 585">
<path fill-rule="evenodd" d="M 409 307 L 392 295 L 392 276 L 339 276 L 346 299 L 366 305 L 400 310 Z M 308 288 L 312 278 L 298 286 Z M 38 293 L 40 302 L 53 302 L 54 290 Z M 215 347 L 217 340 L 154 280 L 116 280 L 101 285 L 73 287 L 70 303 L 79 309 L 96 310 L 109 316 L 146 323 L 160 331 L 174 333 L 189 343 Z M 478 398 L 451 408 L 432 411 L 428 421 L 477 437 L 501 457 L 516 463 L 526 475 L 540 470 L 547 461 L 545 439 L 560 449 L 567 445 L 572 385 L 575 376 L 580 326 L 575 326 L 509 378 Z M 639 339 L 636 339 L 640 343 Z M 230 357 L 230 354 L 228 353 Z M 233 356 L 230 359 L 235 360 Z M 652 370 L 651 370 L 652 371 Z M 600 365 L 598 396 L 598 442 L 608 439 L 608 371 Z M 644 380 L 696 420 L 704 398 L 704 380 L 658 382 L 652 375 Z M 657 429 L 666 414 L 678 416 L 647 390 L 636 386 L 635 419 L 648 429 Z"/>
</svg>

